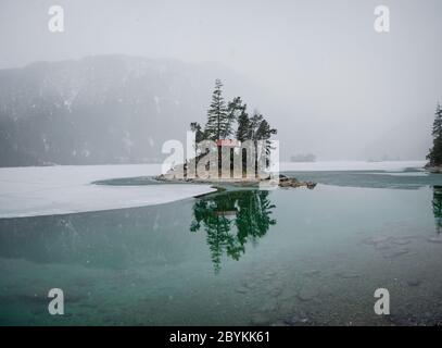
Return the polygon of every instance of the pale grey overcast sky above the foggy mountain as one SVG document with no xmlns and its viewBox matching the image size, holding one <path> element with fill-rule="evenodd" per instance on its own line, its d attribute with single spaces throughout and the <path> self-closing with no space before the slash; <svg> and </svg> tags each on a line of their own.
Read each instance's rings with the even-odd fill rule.
<svg viewBox="0 0 442 348">
<path fill-rule="evenodd" d="M 48 30 L 53 4 L 62 34 Z M 374 29 L 379 4 L 388 34 Z M 0 0 L 0 69 L 106 53 L 218 62 L 281 102 L 283 139 L 303 127 L 293 152 L 411 159 L 442 99 L 441 34 L 440 0 Z"/>
</svg>

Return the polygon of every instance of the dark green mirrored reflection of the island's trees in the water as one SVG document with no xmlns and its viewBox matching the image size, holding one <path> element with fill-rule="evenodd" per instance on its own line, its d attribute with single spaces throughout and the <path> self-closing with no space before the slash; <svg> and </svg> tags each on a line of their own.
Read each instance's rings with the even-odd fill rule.
<svg viewBox="0 0 442 348">
<path fill-rule="evenodd" d="M 270 219 L 275 206 L 267 196 L 268 191 L 264 190 L 225 191 L 194 203 L 190 231 L 203 227 L 206 232 L 216 273 L 224 252 L 239 260 L 248 241 L 255 243 L 276 224 L 276 220 Z"/>
</svg>

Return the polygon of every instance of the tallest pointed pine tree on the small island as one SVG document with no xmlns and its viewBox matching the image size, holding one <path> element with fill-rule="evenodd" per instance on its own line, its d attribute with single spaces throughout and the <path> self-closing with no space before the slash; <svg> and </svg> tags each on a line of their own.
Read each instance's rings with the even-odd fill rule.
<svg viewBox="0 0 442 348">
<path fill-rule="evenodd" d="M 223 84 L 215 80 L 215 89 L 212 95 L 212 103 L 207 111 L 207 123 L 205 124 L 204 138 L 210 140 L 222 139 L 229 132 L 227 108 L 223 98 Z"/>
</svg>

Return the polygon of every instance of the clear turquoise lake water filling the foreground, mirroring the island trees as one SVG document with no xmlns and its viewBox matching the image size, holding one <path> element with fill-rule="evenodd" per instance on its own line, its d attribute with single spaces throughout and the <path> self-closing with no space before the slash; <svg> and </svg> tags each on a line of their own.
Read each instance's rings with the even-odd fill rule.
<svg viewBox="0 0 442 348">
<path fill-rule="evenodd" d="M 442 322 L 442 176 L 291 175 L 319 185 L 0 220 L 0 324 Z M 54 287 L 64 315 L 48 313 Z"/>
</svg>

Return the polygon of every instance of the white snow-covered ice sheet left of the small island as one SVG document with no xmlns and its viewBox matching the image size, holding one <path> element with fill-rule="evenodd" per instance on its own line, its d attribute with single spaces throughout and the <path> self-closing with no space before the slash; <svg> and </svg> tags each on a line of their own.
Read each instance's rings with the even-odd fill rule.
<svg viewBox="0 0 442 348">
<path fill-rule="evenodd" d="M 162 204 L 214 191 L 209 185 L 91 184 L 160 173 L 157 164 L 3 167 L 0 169 L 0 219 Z"/>
</svg>

